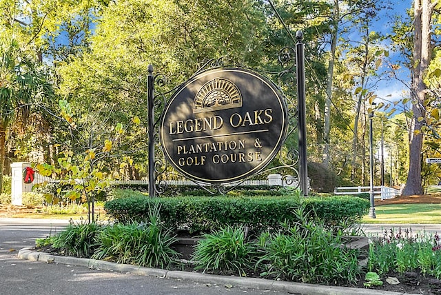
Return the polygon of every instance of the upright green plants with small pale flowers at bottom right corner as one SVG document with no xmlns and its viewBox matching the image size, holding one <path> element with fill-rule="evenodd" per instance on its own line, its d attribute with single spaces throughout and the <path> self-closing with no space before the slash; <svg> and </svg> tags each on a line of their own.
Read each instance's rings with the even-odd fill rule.
<svg viewBox="0 0 441 295">
<path fill-rule="evenodd" d="M 382 236 L 371 236 L 369 245 L 369 272 L 410 272 L 420 270 L 441 278 L 441 241 L 438 233 L 411 229 L 385 230 Z"/>
</svg>

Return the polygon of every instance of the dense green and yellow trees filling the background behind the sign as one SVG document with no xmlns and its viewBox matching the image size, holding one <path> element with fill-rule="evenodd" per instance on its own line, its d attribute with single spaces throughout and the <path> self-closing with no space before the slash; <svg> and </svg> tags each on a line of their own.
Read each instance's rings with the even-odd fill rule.
<svg viewBox="0 0 441 295">
<path fill-rule="evenodd" d="M 432 7 L 432 23 L 440 23 L 438 6 Z M 412 90 L 411 79 L 394 74 L 400 65 L 418 64 L 412 52 L 413 14 L 397 19 L 389 36 L 373 28 L 387 7 L 387 1 L 373 0 L 2 0 L 0 148 L 4 134 L 7 155 L 14 150 L 16 160 L 54 165 L 62 151 L 73 152 L 79 161 L 105 151 L 101 160 L 112 177 L 146 176 L 149 65 L 167 77 L 157 89 L 163 93 L 211 59 L 276 72 L 281 69 L 278 52 L 293 47 L 295 32 L 302 30 L 309 161 L 333 170 L 340 183 L 367 183 L 367 114 L 375 101 L 374 140 L 383 134 L 388 150 L 382 167 L 390 184 L 400 185 L 411 172 L 409 163 L 416 161 L 408 160 L 413 136 L 421 136 L 424 156 L 441 156 L 441 65 L 438 47 L 431 46 L 429 74 L 422 77 L 427 91 L 420 101 L 410 94 L 391 102 L 378 96 L 377 83 L 384 79 L 401 79 Z M 400 64 L 391 59 L 394 50 L 403 53 Z M 295 88 L 281 86 L 295 97 Z M 410 101 L 424 105 L 425 112 L 409 110 Z M 25 110 L 23 105 L 32 106 L 28 114 L 44 128 L 23 130 L 22 137 L 11 139 L 20 116 L 10 115 Z M 156 111 L 159 116 L 161 105 Z M 415 123 L 422 123 L 417 134 L 411 128 Z M 30 145 L 40 158 L 28 157 Z M 433 169 L 423 174 L 429 182 L 435 181 Z"/>
</svg>

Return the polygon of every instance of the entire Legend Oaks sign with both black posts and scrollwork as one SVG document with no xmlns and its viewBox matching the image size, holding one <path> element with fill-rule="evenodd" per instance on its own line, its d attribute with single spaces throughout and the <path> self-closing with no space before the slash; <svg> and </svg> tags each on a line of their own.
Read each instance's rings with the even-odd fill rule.
<svg viewBox="0 0 441 295">
<path fill-rule="evenodd" d="M 150 197 L 167 190 L 168 175 L 174 177 L 176 172 L 179 177 L 190 179 L 214 194 L 213 189 L 224 193 L 252 177 L 281 170 L 291 173 L 283 175 L 276 185 L 289 187 L 289 190 L 300 187 L 302 194 L 308 195 L 302 39 L 302 32 L 298 31 L 296 49 L 289 47 L 279 52 L 279 62 L 283 67 L 280 72 L 256 72 L 225 66 L 218 60 L 205 64 L 188 81 L 162 94 L 155 94 L 157 77 L 154 76 L 153 66 L 149 65 Z M 279 85 L 260 74 L 263 72 L 277 74 Z M 297 102 L 294 102 L 294 97 L 291 100 L 285 96 L 281 87 L 282 83 L 289 87 L 294 82 L 291 74 L 296 74 Z M 161 86 L 161 83 L 158 85 Z M 168 99 L 168 94 L 172 92 L 174 94 Z M 161 120 L 156 122 L 154 108 L 156 102 L 161 102 L 158 98 L 163 99 L 164 110 Z M 159 127 L 158 133 L 155 132 L 156 127 Z M 285 139 L 296 128 L 298 151 L 289 149 L 281 152 Z M 158 135 L 164 157 L 156 163 L 155 140 Z M 267 167 L 276 154 L 280 165 Z M 174 167 L 173 172 L 167 170 L 169 164 Z M 159 185 L 157 179 L 161 179 Z M 231 188 L 226 189 L 226 186 Z"/>
</svg>

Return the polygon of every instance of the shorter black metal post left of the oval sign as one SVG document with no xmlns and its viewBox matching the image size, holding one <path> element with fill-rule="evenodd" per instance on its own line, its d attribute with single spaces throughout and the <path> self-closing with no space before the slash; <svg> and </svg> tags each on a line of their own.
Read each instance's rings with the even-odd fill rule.
<svg viewBox="0 0 441 295">
<path fill-rule="evenodd" d="M 147 78 L 147 112 L 148 112 L 148 134 L 149 134 L 149 196 L 155 196 L 155 176 L 154 176 L 154 76 L 153 65 L 148 66 Z"/>
</svg>

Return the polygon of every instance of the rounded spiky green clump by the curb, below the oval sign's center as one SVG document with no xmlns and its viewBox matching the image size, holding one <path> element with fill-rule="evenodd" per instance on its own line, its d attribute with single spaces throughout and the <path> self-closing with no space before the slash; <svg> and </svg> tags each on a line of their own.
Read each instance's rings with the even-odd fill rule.
<svg viewBox="0 0 441 295">
<path fill-rule="evenodd" d="M 195 269 L 246 276 L 256 259 L 256 245 L 247 242 L 243 227 L 225 227 L 204 234 L 194 249 Z"/>
</svg>

